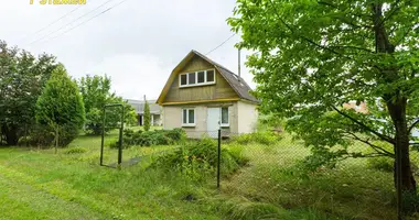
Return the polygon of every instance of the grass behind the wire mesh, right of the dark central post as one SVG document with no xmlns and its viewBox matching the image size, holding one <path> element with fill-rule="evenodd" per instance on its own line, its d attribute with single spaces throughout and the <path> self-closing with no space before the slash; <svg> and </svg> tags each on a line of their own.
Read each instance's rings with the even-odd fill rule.
<svg viewBox="0 0 419 220">
<path fill-rule="evenodd" d="M 226 197 L 320 215 L 309 219 L 396 219 L 393 174 L 367 168 L 366 158 L 346 160 L 334 169 L 307 174 L 297 164 L 310 151 L 287 134 L 275 146 L 244 150 L 250 165 L 223 182 Z"/>
</svg>

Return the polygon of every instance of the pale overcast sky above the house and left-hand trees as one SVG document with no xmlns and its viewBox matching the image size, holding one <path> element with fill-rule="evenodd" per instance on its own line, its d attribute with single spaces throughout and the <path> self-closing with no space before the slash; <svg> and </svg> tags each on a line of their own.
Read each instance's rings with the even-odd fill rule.
<svg viewBox="0 0 419 220">
<path fill-rule="evenodd" d="M 235 7 L 235 0 L 0 3 L 0 40 L 32 54 L 55 55 L 74 78 L 106 74 L 111 77 L 112 90 L 125 99 L 142 99 L 144 95 L 157 99 L 171 70 L 191 50 L 206 54 L 232 36 L 226 19 Z M 234 45 L 238 42 L 235 35 L 207 56 L 237 74 Z M 241 52 L 241 76 L 255 88 L 244 65 L 248 54 Z"/>
</svg>

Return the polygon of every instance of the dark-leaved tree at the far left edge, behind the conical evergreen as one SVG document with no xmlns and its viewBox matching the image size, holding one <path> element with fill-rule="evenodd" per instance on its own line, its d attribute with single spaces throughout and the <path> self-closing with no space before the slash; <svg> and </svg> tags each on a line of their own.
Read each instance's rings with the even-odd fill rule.
<svg viewBox="0 0 419 220">
<path fill-rule="evenodd" d="M 0 41 L 0 130 L 8 145 L 33 129 L 37 97 L 55 67 L 52 55 L 36 58 Z"/>
</svg>

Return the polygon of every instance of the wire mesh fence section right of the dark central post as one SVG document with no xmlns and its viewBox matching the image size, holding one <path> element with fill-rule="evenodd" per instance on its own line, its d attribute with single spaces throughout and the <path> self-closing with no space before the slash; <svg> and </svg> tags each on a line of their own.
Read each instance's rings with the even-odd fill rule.
<svg viewBox="0 0 419 220">
<path fill-rule="evenodd" d="M 217 187 L 222 193 L 355 219 L 404 219 L 415 216 L 410 211 L 418 208 L 416 197 L 395 187 L 390 145 L 372 147 L 354 142 L 329 152 L 310 150 L 287 133 L 270 132 L 240 135 L 219 131 L 217 140 Z M 227 157 L 235 158 L 238 167 L 232 168 Z M 410 151 L 410 161 L 417 176 L 418 151 Z"/>
</svg>

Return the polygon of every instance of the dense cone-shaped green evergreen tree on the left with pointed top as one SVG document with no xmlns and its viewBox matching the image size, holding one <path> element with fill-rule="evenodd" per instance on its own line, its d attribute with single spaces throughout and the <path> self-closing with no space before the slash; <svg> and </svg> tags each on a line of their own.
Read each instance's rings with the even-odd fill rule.
<svg viewBox="0 0 419 220">
<path fill-rule="evenodd" d="M 84 124 L 85 107 L 82 96 L 76 82 L 68 77 L 63 65 L 53 70 L 37 99 L 36 121 L 54 130 L 55 153 L 63 128 L 77 132 Z"/>
</svg>

